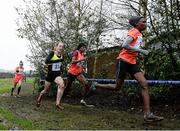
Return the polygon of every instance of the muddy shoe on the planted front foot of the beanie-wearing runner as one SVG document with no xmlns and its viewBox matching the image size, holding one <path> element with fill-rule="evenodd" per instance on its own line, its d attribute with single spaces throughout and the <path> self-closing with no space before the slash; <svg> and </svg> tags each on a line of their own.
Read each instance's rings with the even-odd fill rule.
<svg viewBox="0 0 180 131">
<path fill-rule="evenodd" d="M 164 117 L 156 116 L 153 113 L 146 113 L 144 115 L 144 121 L 146 122 L 155 122 L 155 121 L 162 121 L 164 120 Z"/>
</svg>

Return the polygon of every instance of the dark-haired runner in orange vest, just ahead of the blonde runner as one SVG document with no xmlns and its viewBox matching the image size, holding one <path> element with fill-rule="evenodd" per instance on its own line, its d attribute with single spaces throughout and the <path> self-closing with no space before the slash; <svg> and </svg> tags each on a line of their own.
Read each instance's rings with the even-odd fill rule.
<svg viewBox="0 0 180 131">
<path fill-rule="evenodd" d="M 65 95 L 70 90 L 72 82 L 77 79 L 83 87 L 81 92 L 82 99 L 80 103 L 84 106 L 93 107 L 93 105 L 87 105 L 85 102 L 85 97 L 89 92 L 89 84 L 86 78 L 84 77 L 83 73 L 86 70 L 86 57 L 84 56 L 86 50 L 86 45 L 84 42 L 81 42 L 77 49 L 72 54 L 72 60 L 68 67 L 68 74 L 67 74 L 67 83 L 66 83 L 66 90 Z"/>
</svg>

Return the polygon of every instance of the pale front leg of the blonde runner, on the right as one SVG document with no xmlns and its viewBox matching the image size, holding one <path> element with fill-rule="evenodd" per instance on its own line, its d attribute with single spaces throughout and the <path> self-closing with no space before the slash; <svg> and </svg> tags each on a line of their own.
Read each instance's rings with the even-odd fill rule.
<svg viewBox="0 0 180 131">
<path fill-rule="evenodd" d="M 56 97 L 56 107 L 63 110 L 64 107 L 62 106 L 61 104 L 61 98 L 63 96 L 63 93 L 64 93 L 64 89 L 65 89 L 65 86 L 64 86 L 64 81 L 63 79 L 59 76 L 55 79 L 55 82 L 57 83 L 58 85 L 58 90 L 57 90 L 57 97 Z"/>
</svg>

